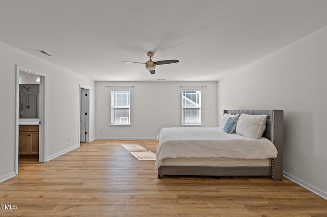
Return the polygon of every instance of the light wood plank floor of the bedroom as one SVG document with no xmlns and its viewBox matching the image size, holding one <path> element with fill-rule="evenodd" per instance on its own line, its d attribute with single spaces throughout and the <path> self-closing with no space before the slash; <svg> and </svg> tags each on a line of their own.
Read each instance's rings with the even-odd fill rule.
<svg viewBox="0 0 327 217">
<path fill-rule="evenodd" d="M 284 178 L 157 178 L 153 160 L 120 144 L 155 151 L 156 141 L 95 141 L 49 162 L 21 159 L 0 183 L 0 216 L 327 216 L 327 201 Z"/>
</svg>

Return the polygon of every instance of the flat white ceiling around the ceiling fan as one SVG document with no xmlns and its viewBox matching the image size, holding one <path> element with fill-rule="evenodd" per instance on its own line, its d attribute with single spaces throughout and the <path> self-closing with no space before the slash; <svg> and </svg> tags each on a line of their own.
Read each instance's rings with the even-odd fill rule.
<svg viewBox="0 0 327 217">
<path fill-rule="evenodd" d="M 0 0 L 0 41 L 97 81 L 219 80 L 327 25 L 326 11 L 326 0 Z M 119 63 L 149 50 L 180 62 L 154 75 Z"/>
</svg>

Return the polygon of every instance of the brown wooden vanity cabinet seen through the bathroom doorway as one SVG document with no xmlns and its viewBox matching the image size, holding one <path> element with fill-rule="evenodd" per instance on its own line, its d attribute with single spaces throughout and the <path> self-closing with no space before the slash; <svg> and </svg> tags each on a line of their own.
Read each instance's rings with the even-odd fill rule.
<svg viewBox="0 0 327 217">
<path fill-rule="evenodd" d="M 39 126 L 19 126 L 19 149 L 18 154 L 39 154 Z"/>
</svg>

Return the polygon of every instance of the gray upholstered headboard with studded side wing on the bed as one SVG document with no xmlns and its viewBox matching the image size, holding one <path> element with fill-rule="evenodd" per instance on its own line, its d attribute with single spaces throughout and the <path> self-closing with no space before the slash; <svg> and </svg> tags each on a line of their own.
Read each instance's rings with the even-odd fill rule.
<svg viewBox="0 0 327 217">
<path fill-rule="evenodd" d="M 283 110 L 224 110 L 224 113 L 267 115 L 266 130 L 263 137 L 270 140 L 276 147 L 277 158 L 271 160 L 272 179 L 282 180 L 283 178 L 283 146 L 284 146 L 284 111 Z"/>
</svg>

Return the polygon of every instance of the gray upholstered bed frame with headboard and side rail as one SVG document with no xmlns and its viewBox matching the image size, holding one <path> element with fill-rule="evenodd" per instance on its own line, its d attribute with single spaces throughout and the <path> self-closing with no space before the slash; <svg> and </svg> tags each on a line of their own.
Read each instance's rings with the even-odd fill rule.
<svg viewBox="0 0 327 217">
<path fill-rule="evenodd" d="M 263 137 L 269 139 L 276 147 L 278 154 L 271 158 L 269 167 L 202 167 L 202 166 L 160 166 L 158 178 L 162 175 L 195 175 L 195 176 L 270 176 L 272 180 L 283 179 L 283 145 L 284 145 L 284 112 L 283 110 L 224 110 L 224 113 L 267 115 L 267 127 Z"/>
</svg>

